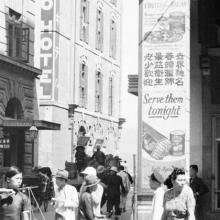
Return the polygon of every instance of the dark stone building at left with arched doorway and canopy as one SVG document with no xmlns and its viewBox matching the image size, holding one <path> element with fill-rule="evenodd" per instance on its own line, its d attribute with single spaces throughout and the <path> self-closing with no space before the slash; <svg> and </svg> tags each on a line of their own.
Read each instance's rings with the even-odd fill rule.
<svg viewBox="0 0 220 220">
<path fill-rule="evenodd" d="M 37 163 L 29 129 L 33 125 L 47 129 L 50 124 L 39 120 L 35 80 L 41 70 L 34 65 L 35 7 L 34 1 L 0 3 L 0 168 L 16 165 L 25 174 Z"/>
</svg>

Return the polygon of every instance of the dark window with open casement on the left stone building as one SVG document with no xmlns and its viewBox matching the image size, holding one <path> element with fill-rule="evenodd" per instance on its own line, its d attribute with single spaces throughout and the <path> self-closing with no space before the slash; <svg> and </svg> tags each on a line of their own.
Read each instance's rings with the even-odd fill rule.
<svg viewBox="0 0 220 220">
<path fill-rule="evenodd" d="M 23 27 L 21 15 L 9 9 L 8 28 L 8 56 L 28 62 L 29 58 L 29 28 Z"/>
</svg>

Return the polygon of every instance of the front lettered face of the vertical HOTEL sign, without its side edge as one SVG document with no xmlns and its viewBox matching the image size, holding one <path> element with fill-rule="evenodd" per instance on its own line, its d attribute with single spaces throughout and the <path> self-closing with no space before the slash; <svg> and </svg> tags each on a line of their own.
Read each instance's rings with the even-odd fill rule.
<svg viewBox="0 0 220 220">
<path fill-rule="evenodd" d="M 53 99 L 53 17 L 54 1 L 41 0 L 40 99 Z"/>
</svg>

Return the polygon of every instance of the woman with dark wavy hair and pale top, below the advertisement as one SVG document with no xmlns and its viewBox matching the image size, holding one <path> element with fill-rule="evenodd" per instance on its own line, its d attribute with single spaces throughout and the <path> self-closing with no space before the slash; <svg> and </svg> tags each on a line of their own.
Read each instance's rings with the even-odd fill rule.
<svg viewBox="0 0 220 220">
<path fill-rule="evenodd" d="M 180 168 L 172 173 L 173 187 L 165 192 L 162 220 L 195 220 L 195 198 L 186 185 L 185 171 Z"/>
</svg>

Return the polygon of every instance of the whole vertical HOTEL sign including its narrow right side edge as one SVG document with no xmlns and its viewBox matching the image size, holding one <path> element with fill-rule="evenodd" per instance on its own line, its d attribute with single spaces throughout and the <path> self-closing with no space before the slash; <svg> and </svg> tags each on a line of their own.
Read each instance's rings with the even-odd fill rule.
<svg viewBox="0 0 220 220">
<path fill-rule="evenodd" d="M 41 100 L 58 100 L 59 28 L 60 1 L 41 0 Z"/>
</svg>

